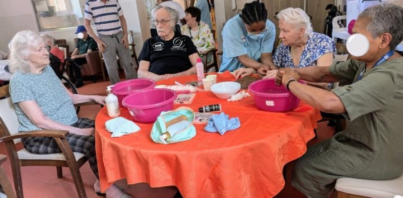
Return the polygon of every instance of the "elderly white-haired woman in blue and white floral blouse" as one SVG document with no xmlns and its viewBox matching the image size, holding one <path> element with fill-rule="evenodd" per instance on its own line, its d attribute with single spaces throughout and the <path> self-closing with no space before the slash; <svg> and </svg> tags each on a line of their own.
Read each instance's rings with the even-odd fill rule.
<svg viewBox="0 0 403 198">
<path fill-rule="evenodd" d="M 282 40 L 273 56 L 277 67 L 329 66 L 336 51 L 333 41 L 324 34 L 312 32 L 308 15 L 299 8 L 288 8 L 277 14 Z M 260 67 L 264 78 L 276 76 L 277 70 Z M 327 88 L 327 83 L 309 83 Z"/>
</svg>

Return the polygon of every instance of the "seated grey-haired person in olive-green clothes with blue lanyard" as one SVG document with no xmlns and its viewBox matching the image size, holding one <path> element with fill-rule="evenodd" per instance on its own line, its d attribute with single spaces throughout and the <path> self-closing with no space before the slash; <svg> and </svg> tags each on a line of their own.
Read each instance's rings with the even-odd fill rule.
<svg viewBox="0 0 403 198">
<path fill-rule="evenodd" d="M 369 7 L 353 33 L 347 43 L 352 59 L 327 67 L 281 68 L 276 77 L 306 104 L 349 121 L 345 131 L 309 147 L 297 160 L 292 185 L 308 197 L 328 197 L 342 177 L 384 180 L 403 173 L 403 57 L 393 51 L 403 40 L 403 8 Z M 344 86 L 327 91 L 299 79 L 343 81 Z"/>
</svg>

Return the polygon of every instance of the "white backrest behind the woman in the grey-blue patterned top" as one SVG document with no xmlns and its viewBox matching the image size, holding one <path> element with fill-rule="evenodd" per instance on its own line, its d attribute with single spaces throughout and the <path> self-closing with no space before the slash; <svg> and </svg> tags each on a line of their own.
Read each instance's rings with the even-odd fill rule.
<svg viewBox="0 0 403 198">
<path fill-rule="evenodd" d="M 18 117 L 14 109 L 14 105 L 11 102 L 11 97 L 0 100 L 0 137 L 13 135 L 18 133 L 20 126 Z M 21 140 L 15 140 L 14 142 L 20 142 Z"/>
</svg>

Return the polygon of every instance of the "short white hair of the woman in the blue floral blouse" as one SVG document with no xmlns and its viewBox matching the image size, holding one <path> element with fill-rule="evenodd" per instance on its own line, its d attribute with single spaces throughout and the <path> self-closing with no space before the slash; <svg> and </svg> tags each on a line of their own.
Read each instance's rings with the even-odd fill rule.
<svg viewBox="0 0 403 198">
<path fill-rule="evenodd" d="M 309 37 L 312 33 L 312 24 L 308 15 L 300 8 L 287 8 L 277 14 L 279 20 L 285 23 L 295 25 L 297 28 L 305 28 L 305 37 Z"/>
</svg>

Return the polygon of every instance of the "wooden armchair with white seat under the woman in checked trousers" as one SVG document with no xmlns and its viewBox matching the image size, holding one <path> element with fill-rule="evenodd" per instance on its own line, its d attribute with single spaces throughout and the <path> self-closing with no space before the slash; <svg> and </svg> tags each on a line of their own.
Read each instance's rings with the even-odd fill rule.
<svg viewBox="0 0 403 198">
<path fill-rule="evenodd" d="M 95 102 L 83 105 L 94 105 Z M 11 98 L 0 100 L 0 141 L 5 142 L 9 153 L 14 186 L 17 197 L 23 198 L 21 166 L 56 166 L 57 177 L 62 177 L 61 167 L 69 167 L 76 185 L 79 197 L 87 197 L 79 168 L 87 161 L 85 154 L 73 152 L 65 137 L 68 131 L 60 130 L 38 130 L 29 132 L 18 132 L 19 122 Z M 16 143 L 21 142 L 20 138 L 25 137 L 53 137 L 57 142 L 61 153 L 34 154 L 26 149 L 17 150 Z"/>
</svg>

